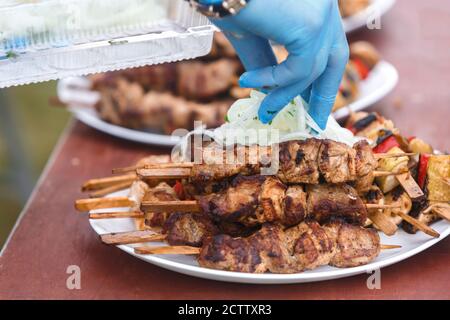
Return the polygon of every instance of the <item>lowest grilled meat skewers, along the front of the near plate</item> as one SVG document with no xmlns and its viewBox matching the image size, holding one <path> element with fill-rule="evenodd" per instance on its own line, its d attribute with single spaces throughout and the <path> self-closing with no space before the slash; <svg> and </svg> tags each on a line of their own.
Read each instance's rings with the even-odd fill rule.
<svg viewBox="0 0 450 320">
<path fill-rule="evenodd" d="M 202 267 L 252 273 L 296 273 L 322 265 L 339 268 L 370 263 L 381 249 L 374 229 L 335 220 L 320 226 L 308 220 L 285 228 L 264 224 L 249 236 L 233 238 L 198 214 L 173 214 L 165 223 L 166 234 L 149 231 L 105 234 L 109 245 L 166 240 L 170 246 L 136 247 L 138 254 L 198 254 Z"/>
</svg>

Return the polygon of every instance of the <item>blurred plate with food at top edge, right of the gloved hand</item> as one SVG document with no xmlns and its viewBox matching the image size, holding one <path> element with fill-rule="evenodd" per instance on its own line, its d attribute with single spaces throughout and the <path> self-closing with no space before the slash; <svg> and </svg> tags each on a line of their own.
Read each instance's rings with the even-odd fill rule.
<svg viewBox="0 0 450 320">
<path fill-rule="evenodd" d="M 395 4 L 395 0 L 339 0 L 344 30 L 352 32 L 381 18 Z"/>
</svg>

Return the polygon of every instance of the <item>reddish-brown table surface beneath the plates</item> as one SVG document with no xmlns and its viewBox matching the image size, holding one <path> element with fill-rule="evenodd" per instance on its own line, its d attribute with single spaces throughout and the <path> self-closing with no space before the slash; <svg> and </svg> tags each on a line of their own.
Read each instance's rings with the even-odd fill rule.
<svg viewBox="0 0 450 320">
<path fill-rule="evenodd" d="M 397 66 L 401 82 L 373 109 L 408 135 L 450 148 L 450 2 L 399 0 L 382 29 L 362 31 Z M 32 106 L 30 106 L 32 107 Z M 167 149 L 121 141 L 73 123 L 0 257 L 0 298 L 147 299 L 414 299 L 450 298 L 450 238 L 382 269 L 381 290 L 368 275 L 296 285 L 214 282 L 166 271 L 102 245 L 86 215 L 76 213 L 79 186 L 141 156 Z M 68 266 L 81 268 L 81 290 L 66 287 Z"/>
</svg>

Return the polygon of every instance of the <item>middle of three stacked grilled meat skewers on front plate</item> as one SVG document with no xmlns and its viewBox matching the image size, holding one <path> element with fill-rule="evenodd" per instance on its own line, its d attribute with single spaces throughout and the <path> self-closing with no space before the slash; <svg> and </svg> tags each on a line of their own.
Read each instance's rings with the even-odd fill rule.
<svg viewBox="0 0 450 320">
<path fill-rule="evenodd" d="M 349 185 L 286 186 L 271 176 L 238 176 L 218 193 L 198 196 L 198 201 L 143 202 L 143 211 L 200 211 L 214 221 L 239 222 L 252 227 L 264 222 L 296 225 L 306 217 L 320 223 L 341 217 L 363 225 L 365 204 Z"/>
</svg>

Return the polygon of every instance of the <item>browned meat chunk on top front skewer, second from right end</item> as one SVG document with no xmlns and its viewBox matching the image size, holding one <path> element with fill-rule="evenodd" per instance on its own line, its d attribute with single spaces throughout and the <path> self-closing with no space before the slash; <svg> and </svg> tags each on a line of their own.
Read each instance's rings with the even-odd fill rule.
<svg viewBox="0 0 450 320">
<path fill-rule="evenodd" d="M 319 170 L 328 183 L 356 179 L 356 151 L 346 144 L 325 139 L 319 151 Z"/>
</svg>

